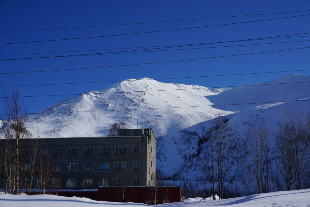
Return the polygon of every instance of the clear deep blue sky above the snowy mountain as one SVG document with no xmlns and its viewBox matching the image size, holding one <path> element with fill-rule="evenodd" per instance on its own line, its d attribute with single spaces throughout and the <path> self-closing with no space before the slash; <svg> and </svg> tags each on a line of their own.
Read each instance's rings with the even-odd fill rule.
<svg viewBox="0 0 310 207">
<path fill-rule="evenodd" d="M 137 22 L 197 19 L 207 17 L 237 16 L 261 13 L 310 10 L 309 0 L 253 0 L 253 1 L 0 1 L 0 31 L 49 29 L 92 25 L 113 25 Z M 156 24 L 94 27 L 0 33 L 0 43 L 26 42 L 48 39 L 79 38 L 111 34 L 137 33 L 144 31 L 178 29 L 218 25 L 233 22 L 262 20 L 285 16 L 310 14 L 308 12 L 246 16 L 223 19 L 179 21 Z M 20 43 L 0 45 L 0 55 L 17 53 L 59 52 L 125 47 L 145 47 L 175 44 L 222 42 L 250 38 L 262 38 L 310 32 L 310 16 L 270 20 L 238 25 L 225 25 L 200 29 L 188 29 L 150 34 L 135 34 L 105 38 L 91 38 L 55 42 Z M 310 35 L 310 34 L 309 34 Z M 310 40 L 310 37 L 275 40 L 256 40 L 243 43 L 221 43 L 212 46 L 257 44 Z M 57 70 L 109 65 L 126 65 L 158 61 L 173 61 L 212 56 L 225 56 L 252 52 L 310 47 L 310 42 L 270 45 L 223 47 L 183 51 L 146 52 L 98 56 L 57 57 L 44 59 L 0 61 L 1 73 Z M 82 54 L 56 53 L 57 54 Z M 92 52 L 90 52 L 92 53 Z M 2 74 L 0 86 L 74 83 L 124 80 L 130 78 L 171 78 L 219 74 L 256 73 L 283 70 L 310 69 L 310 48 L 246 56 L 214 58 L 206 60 L 136 65 L 90 70 L 56 71 L 26 74 Z M 0 59 L 50 56 L 14 55 Z M 310 75 L 309 71 L 298 72 Z M 260 83 L 289 73 L 240 75 L 213 78 L 190 78 L 161 80 L 169 83 L 184 83 L 206 87 L 220 87 Z M 112 83 L 91 83 L 51 86 L 16 87 L 22 96 L 80 94 L 95 89 L 104 89 Z M 0 87 L 1 92 L 10 92 L 11 87 Z M 73 96 L 28 97 L 24 106 L 28 112 L 37 112 Z M 278 100 L 275 100 L 278 101 Z M 3 103 L 0 103 L 2 114 Z"/>
</svg>

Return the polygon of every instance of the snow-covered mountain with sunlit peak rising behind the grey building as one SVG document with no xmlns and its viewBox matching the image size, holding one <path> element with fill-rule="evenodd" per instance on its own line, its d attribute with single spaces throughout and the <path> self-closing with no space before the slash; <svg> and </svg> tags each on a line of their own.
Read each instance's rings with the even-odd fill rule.
<svg viewBox="0 0 310 207">
<path fill-rule="evenodd" d="M 111 126 L 120 121 L 125 128 L 153 128 L 157 168 L 172 174 L 184 164 L 184 155 L 196 151 L 197 136 L 191 133 L 213 115 L 229 115 L 234 123 L 255 115 L 275 128 L 287 108 L 310 110 L 310 101 L 285 101 L 309 99 L 310 76 L 299 74 L 249 86 L 209 89 L 148 78 L 128 79 L 30 115 L 28 126 L 33 134 L 38 128 L 40 137 L 107 136 Z M 236 103 L 255 104 L 229 105 Z"/>
</svg>

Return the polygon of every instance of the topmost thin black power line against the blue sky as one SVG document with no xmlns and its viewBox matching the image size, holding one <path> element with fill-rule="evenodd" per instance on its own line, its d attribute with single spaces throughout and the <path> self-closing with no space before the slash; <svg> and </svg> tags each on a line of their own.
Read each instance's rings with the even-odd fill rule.
<svg viewBox="0 0 310 207">
<path fill-rule="evenodd" d="M 310 11 L 310 10 L 304 10 L 304 11 Z M 56 30 L 56 29 L 79 29 L 79 28 L 122 26 L 122 25 L 140 25 L 140 24 L 153 24 L 153 23 L 164 23 L 164 22 L 207 20 L 207 19 L 220 19 L 220 18 L 243 17 L 243 16 L 258 16 L 258 15 L 269 15 L 269 14 L 285 14 L 285 13 L 304 12 L 304 11 L 286 11 L 286 12 L 277 12 L 277 13 L 250 14 L 250 15 L 223 16 L 223 17 L 209 17 L 209 18 L 187 19 L 187 20 L 167 20 L 167 21 L 155 21 L 155 22 L 139 22 L 139 23 L 127 23 L 127 24 L 115 24 L 115 25 L 95 25 L 95 26 L 82 26 L 82 27 L 63 27 L 63 28 L 50 28 L 50 29 L 15 30 L 15 31 L 3 31 L 3 32 L 0 32 L 0 33 L 43 31 L 43 30 Z"/>
</svg>

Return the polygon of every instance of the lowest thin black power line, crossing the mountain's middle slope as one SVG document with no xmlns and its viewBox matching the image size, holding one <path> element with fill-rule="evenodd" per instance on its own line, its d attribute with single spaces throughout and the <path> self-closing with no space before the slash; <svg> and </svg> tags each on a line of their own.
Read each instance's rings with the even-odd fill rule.
<svg viewBox="0 0 310 207">
<path fill-rule="evenodd" d="M 175 109 L 175 108 L 192 108 L 192 107 L 206 107 L 206 106 L 235 106 L 235 105 L 248 105 L 248 104 L 269 104 L 269 103 L 283 103 L 283 102 L 298 102 L 298 101 L 310 101 L 309 100 L 289 100 L 289 101 L 271 101 L 271 102 L 253 102 L 253 103 L 235 103 L 235 104 L 214 104 L 203 106 L 175 106 L 175 107 L 160 107 L 160 108 L 139 108 L 139 110 L 153 110 L 153 109 Z M 90 111 L 64 111 L 64 112 L 38 112 L 38 113 L 20 113 L 18 115 L 38 115 L 38 114 L 62 114 L 62 113 L 82 113 L 82 112 L 100 112 L 100 111 L 128 111 L 137 109 L 112 109 L 112 110 L 90 110 Z M 6 114 L 0 114 L 6 115 Z"/>
</svg>

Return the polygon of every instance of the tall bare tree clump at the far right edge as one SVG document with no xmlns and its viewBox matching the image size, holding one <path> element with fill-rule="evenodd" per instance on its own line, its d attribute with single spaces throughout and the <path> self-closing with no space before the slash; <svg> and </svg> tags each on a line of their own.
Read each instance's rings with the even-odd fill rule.
<svg viewBox="0 0 310 207">
<path fill-rule="evenodd" d="M 307 127 L 302 112 L 287 110 L 284 115 L 275 136 L 276 156 L 286 190 L 302 189 L 308 161 Z"/>
</svg>

